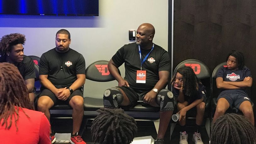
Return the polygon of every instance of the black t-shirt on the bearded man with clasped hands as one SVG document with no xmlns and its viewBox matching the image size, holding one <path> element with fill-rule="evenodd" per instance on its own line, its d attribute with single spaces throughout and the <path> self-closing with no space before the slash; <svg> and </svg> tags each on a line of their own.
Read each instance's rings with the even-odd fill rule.
<svg viewBox="0 0 256 144">
<path fill-rule="evenodd" d="M 78 74 L 85 74 L 85 59 L 71 48 L 65 53 L 59 53 L 53 48 L 40 58 L 39 75 L 48 75 L 48 80 L 56 88 L 71 86 Z"/>
</svg>

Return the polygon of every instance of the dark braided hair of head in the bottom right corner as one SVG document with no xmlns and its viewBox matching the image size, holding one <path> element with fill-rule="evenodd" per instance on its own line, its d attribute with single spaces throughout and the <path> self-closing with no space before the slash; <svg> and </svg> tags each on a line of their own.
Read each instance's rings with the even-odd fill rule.
<svg viewBox="0 0 256 144">
<path fill-rule="evenodd" d="M 252 123 L 242 115 L 225 114 L 213 125 L 211 144 L 255 144 L 256 132 Z"/>
</svg>

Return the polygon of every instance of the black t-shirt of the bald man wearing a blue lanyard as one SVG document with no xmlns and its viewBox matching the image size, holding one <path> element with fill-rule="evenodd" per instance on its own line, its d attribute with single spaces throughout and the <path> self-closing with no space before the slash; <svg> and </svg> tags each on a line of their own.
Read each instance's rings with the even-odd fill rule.
<svg viewBox="0 0 256 144">
<path fill-rule="evenodd" d="M 141 48 L 142 60 L 150 52 Z M 142 70 L 146 70 L 146 83 L 136 83 L 136 72 L 141 70 L 141 60 L 138 45 L 134 43 L 121 47 L 112 57 L 113 62 L 119 67 L 125 63 L 125 77 L 131 88 L 135 91 L 149 91 L 159 81 L 159 71 L 171 71 L 168 52 L 162 47 L 154 45 L 153 51 L 142 64 Z"/>
</svg>

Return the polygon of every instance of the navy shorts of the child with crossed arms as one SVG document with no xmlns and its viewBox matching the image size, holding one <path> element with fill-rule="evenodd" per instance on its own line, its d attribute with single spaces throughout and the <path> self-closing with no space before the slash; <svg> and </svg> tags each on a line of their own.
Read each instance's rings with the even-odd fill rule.
<svg viewBox="0 0 256 144">
<path fill-rule="evenodd" d="M 239 107 L 242 102 L 244 102 L 244 101 L 251 102 L 248 95 L 241 94 L 241 93 L 223 93 L 218 96 L 217 101 L 220 98 L 225 98 L 228 101 L 231 109 L 234 107 L 236 108 L 236 112 L 238 112 Z"/>
</svg>

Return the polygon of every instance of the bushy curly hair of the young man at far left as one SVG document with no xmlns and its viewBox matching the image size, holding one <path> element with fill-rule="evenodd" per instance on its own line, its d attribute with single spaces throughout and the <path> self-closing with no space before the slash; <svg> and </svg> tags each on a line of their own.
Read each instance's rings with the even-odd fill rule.
<svg viewBox="0 0 256 144">
<path fill-rule="evenodd" d="M 12 46 L 17 44 L 25 44 L 26 38 L 25 35 L 19 33 L 13 33 L 5 35 L 1 38 L 0 41 L 0 55 L 4 55 L 7 51 L 11 51 Z"/>
</svg>

